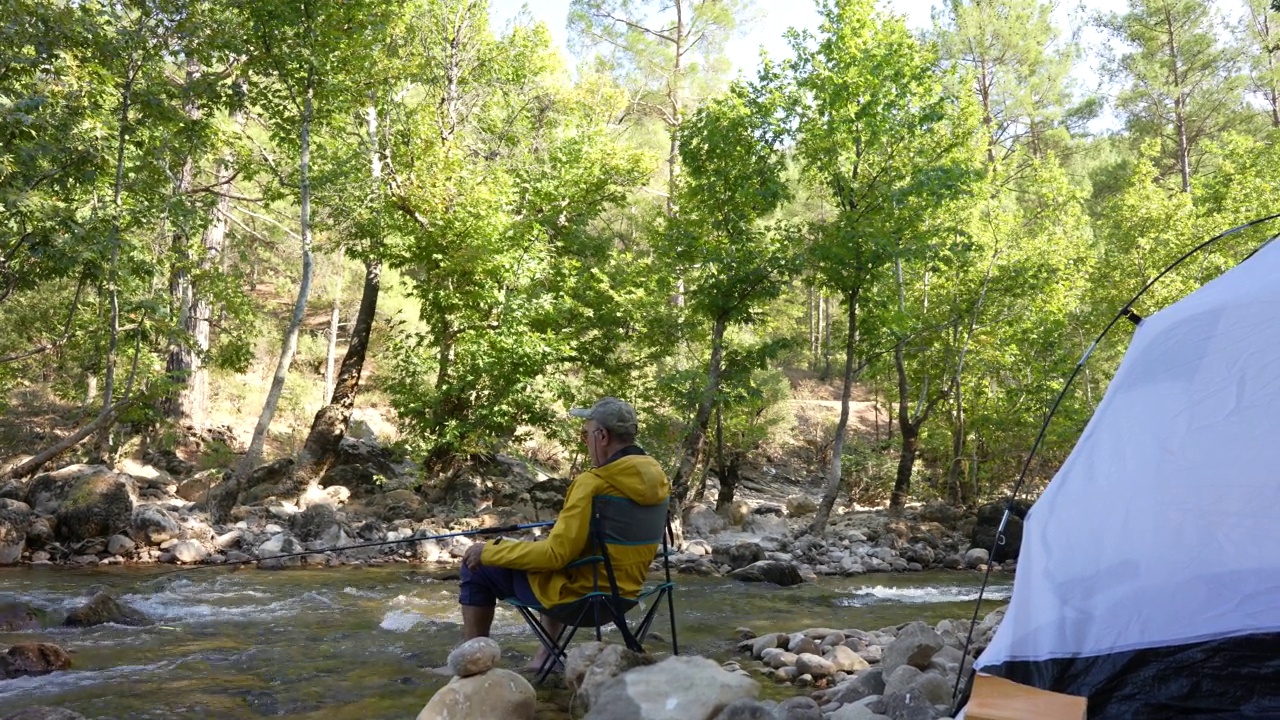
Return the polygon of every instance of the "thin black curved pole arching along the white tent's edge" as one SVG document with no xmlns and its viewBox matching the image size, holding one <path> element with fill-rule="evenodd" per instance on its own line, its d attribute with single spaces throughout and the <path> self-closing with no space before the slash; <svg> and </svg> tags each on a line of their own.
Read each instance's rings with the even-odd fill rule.
<svg viewBox="0 0 1280 720">
<path fill-rule="evenodd" d="M 1142 287 L 1142 290 L 1139 290 L 1138 293 L 1134 295 L 1132 300 L 1129 300 L 1129 302 L 1125 302 L 1124 307 L 1121 307 L 1120 311 L 1116 313 L 1115 318 L 1111 318 L 1111 322 L 1107 323 L 1106 328 L 1103 328 L 1102 332 L 1098 333 L 1098 337 L 1092 343 L 1089 343 L 1089 347 L 1084 351 L 1084 355 L 1082 355 L 1080 359 L 1075 363 L 1075 368 L 1071 370 L 1071 374 L 1066 378 L 1066 383 L 1062 384 L 1061 392 L 1057 393 L 1057 397 L 1053 400 L 1053 405 L 1050 406 L 1048 415 L 1044 416 L 1044 421 L 1041 424 L 1039 434 L 1036 436 L 1036 442 L 1032 443 L 1032 450 L 1030 450 L 1030 452 L 1027 454 L 1027 460 L 1023 462 L 1023 469 L 1018 474 L 1018 480 L 1014 483 L 1014 491 L 1009 495 L 1009 500 L 1005 502 L 1005 512 L 1000 518 L 1000 525 L 996 528 L 996 537 L 995 537 L 995 539 L 991 543 L 991 552 L 988 553 L 987 571 L 982 577 L 982 587 L 978 589 L 978 601 L 974 603 L 973 618 L 969 620 L 969 633 L 965 635 L 965 641 L 964 641 L 964 652 L 961 655 L 960 673 L 956 674 L 956 684 L 951 689 L 951 703 L 952 703 L 951 714 L 952 715 L 955 715 L 956 712 L 960 711 L 960 700 L 961 700 L 961 697 L 960 697 L 960 683 L 965 678 L 964 659 L 969 657 L 969 647 L 973 643 L 973 630 L 978 625 L 978 614 L 982 610 L 982 600 L 986 596 L 987 584 L 991 580 L 991 561 L 995 560 L 995 557 L 996 557 L 996 550 L 1000 546 L 1002 546 L 1002 544 L 1005 544 L 1007 542 L 1007 538 L 1005 537 L 1005 529 L 1009 527 L 1009 518 L 1010 518 L 1010 515 L 1012 515 L 1014 502 L 1018 500 L 1018 492 L 1021 489 L 1023 483 L 1027 479 L 1027 471 L 1030 469 L 1032 460 L 1036 457 L 1036 454 L 1039 451 L 1041 443 L 1044 441 L 1044 436 L 1048 432 L 1048 424 L 1050 424 L 1050 421 L 1053 420 L 1053 416 L 1057 414 L 1057 409 L 1062 404 L 1062 398 L 1066 397 L 1066 392 L 1071 388 L 1071 383 L 1074 383 L 1075 378 L 1079 377 L 1080 372 L 1084 369 L 1084 364 L 1089 361 L 1089 357 L 1093 355 L 1093 351 L 1098 347 L 1098 343 L 1101 343 L 1102 340 L 1106 338 L 1106 336 L 1111 332 L 1111 329 L 1121 319 L 1126 319 L 1126 320 L 1132 322 L 1134 325 L 1138 325 L 1138 324 L 1142 323 L 1143 318 L 1142 318 L 1142 315 L 1138 315 L 1138 313 L 1134 311 L 1133 305 L 1135 302 L 1138 302 L 1138 300 L 1140 300 L 1142 296 L 1147 295 L 1147 291 L 1149 291 L 1165 275 L 1167 275 L 1169 273 L 1171 273 L 1179 265 L 1181 265 L 1188 259 L 1190 259 L 1192 256 L 1197 255 L 1198 252 L 1201 252 L 1206 247 L 1216 243 L 1217 241 L 1220 241 L 1220 240 L 1222 240 L 1225 237 L 1230 237 L 1230 236 L 1233 236 L 1233 234 L 1235 234 L 1238 232 L 1243 232 L 1243 231 L 1247 231 L 1249 228 L 1253 228 L 1253 227 L 1257 227 L 1257 225 L 1261 225 L 1261 224 L 1265 224 L 1265 223 L 1270 223 L 1271 220 L 1275 220 L 1277 218 L 1280 218 L 1280 213 L 1276 213 L 1274 215 L 1267 215 L 1265 218 L 1258 218 L 1256 220 L 1249 220 L 1248 223 L 1244 223 L 1244 224 L 1236 225 L 1236 227 L 1234 227 L 1234 228 L 1231 228 L 1229 231 L 1221 232 L 1221 233 L 1219 233 L 1219 234 L 1216 234 L 1216 236 L 1206 240 L 1204 242 L 1201 242 L 1199 245 L 1197 245 L 1196 247 L 1188 250 L 1187 252 L 1184 252 L 1180 258 L 1178 258 L 1176 260 L 1174 260 L 1172 263 L 1170 263 L 1169 266 L 1166 266 L 1164 270 L 1161 270 L 1156 277 L 1153 277 L 1151 281 L 1148 281 L 1147 284 L 1144 284 Z M 1262 250 L 1263 247 L 1266 247 L 1267 245 L 1270 245 L 1271 242 L 1274 242 L 1276 238 L 1280 238 L 1280 233 L 1272 234 L 1271 237 L 1267 238 L 1266 242 L 1263 242 L 1258 247 L 1253 249 L 1253 251 L 1249 252 L 1248 255 L 1245 255 L 1243 260 L 1240 260 L 1239 263 L 1236 263 L 1236 266 L 1240 265 L 1240 264 L 1243 264 L 1243 263 L 1245 263 L 1245 261 L 1248 261 L 1251 258 L 1253 258 L 1254 255 L 1257 255 L 1257 252 L 1260 250 Z M 973 682 L 973 676 L 977 673 L 978 673 L 978 670 L 977 670 L 977 659 L 975 659 L 974 662 L 973 662 L 973 665 L 969 669 L 969 673 L 968 673 L 970 682 Z"/>
</svg>

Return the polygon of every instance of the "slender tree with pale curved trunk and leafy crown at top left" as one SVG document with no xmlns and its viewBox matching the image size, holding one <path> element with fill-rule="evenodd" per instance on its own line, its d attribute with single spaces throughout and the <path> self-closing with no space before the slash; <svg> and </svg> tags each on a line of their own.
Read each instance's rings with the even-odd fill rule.
<svg viewBox="0 0 1280 720">
<path fill-rule="evenodd" d="M 248 28 L 251 72 L 261 78 L 255 99 L 266 108 L 269 128 L 282 146 L 297 143 L 298 233 L 302 278 L 280 346 L 271 387 L 248 451 L 247 473 L 262 455 L 284 379 L 298 343 L 311 292 L 311 129 L 317 117 L 351 108 L 351 86 L 367 67 L 370 46 L 384 29 L 390 5 L 381 0 L 253 0 L 237 6 Z M 291 183 L 292 184 L 292 183 Z"/>
</svg>

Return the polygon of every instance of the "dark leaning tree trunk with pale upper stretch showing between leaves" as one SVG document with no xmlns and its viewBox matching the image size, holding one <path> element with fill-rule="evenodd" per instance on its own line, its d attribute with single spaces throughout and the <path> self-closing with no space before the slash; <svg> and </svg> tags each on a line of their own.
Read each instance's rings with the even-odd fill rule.
<svg viewBox="0 0 1280 720">
<path fill-rule="evenodd" d="M 370 105 L 365 110 L 370 146 L 370 174 L 376 187 L 381 187 L 383 164 L 378 145 L 378 109 Z M 351 342 L 342 357 L 342 366 L 334 382 L 329 404 L 316 413 L 311 432 L 302 443 L 300 465 L 305 471 L 319 478 L 338 459 L 338 445 L 347 434 L 351 411 L 356 406 L 356 392 L 365 370 L 365 355 L 369 351 L 369 336 L 372 334 L 374 319 L 378 315 L 378 295 L 381 291 L 383 261 L 375 247 L 365 260 L 365 287 L 360 295 L 360 310 L 356 311 L 356 324 L 351 329 Z"/>
</svg>

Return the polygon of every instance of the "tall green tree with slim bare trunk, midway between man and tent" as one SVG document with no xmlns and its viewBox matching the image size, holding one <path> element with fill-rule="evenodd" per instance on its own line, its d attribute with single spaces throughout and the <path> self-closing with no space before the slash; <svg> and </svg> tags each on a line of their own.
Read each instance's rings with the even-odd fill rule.
<svg viewBox="0 0 1280 720">
<path fill-rule="evenodd" d="M 957 115 L 963 102 L 942 82 L 936 51 L 914 38 L 901 18 L 876 12 L 869 0 L 823 3 L 819 13 L 817 38 L 792 35 L 796 151 L 836 205 L 813 260 L 845 301 L 847 334 L 840 421 L 815 532 L 826 528 L 840 492 L 859 370 L 859 302 L 887 281 L 895 258 L 910 250 L 920 217 L 906 209 L 945 206 L 964 191 L 970 168 L 954 155 L 973 141 Z"/>
</svg>

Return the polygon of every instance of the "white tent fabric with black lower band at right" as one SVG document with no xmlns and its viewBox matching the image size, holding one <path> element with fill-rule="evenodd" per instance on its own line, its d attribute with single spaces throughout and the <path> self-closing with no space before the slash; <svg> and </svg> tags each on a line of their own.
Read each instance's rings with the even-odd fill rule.
<svg viewBox="0 0 1280 720">
<path fill-rule="evenodd" d="M 1280 646 L 1248 673 L 1198 675 L 1198 662 L 1183 661 L 1257 664 L 1258 643 L 1274 643 L 1277 514 L 1274 243 L 1138 325 L 1079 442 L 1027 516 L 1009 611 L 977 669 L 1069 694 L 1096 691 L 1091 719 L 1247 717 L 1231 712 L 1254 698 L 1257 683 L 1270 694 L 1254 705 L 1280 716 Z M 1160 683 L 1180 685 L 1167 697 L 1126 691 L 1162 671 L 1180 675 Z M 1161 714 L 1187 698 L 1201 703 L 1197 715 Z"/>
</svg>

